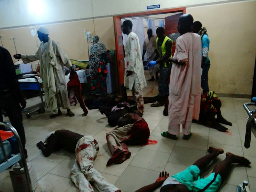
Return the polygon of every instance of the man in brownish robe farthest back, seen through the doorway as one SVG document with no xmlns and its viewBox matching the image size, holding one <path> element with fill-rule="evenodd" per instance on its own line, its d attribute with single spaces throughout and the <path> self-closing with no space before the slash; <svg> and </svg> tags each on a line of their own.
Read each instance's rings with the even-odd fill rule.
<svg viewBox="0 0 256 192">
<path fill-rule="evenodd" d="M 153 35 L 152 29 L 148 29 L 147 31 L 148 38 L 144 40 L 143 43 L 143 52 L 142 52 L 142 60 L 144 59 L 144 55 L 147 52 L 147 62 L 149 63 L 153 58 L 153 53 L 156 49 L 156 36 Z M 157 81 L 159 79 L 158 77 L 158 71 L 159 71 L 159 64 L 155 66 L 149 67 L 149 74 L 151 76 L 151 79 L 148 81 Z M 156 74 L 156 79 L 154 78 L 154 74 Z"/>
</svg>

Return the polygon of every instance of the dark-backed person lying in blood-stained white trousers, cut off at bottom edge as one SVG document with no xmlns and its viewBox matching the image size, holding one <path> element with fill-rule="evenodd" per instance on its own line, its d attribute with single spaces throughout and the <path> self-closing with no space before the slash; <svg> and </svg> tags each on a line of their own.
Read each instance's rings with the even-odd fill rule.
<svg viewBox="0 0 256 192">
<path fill-rule="evenodd" d="M 121 192 L 93 167 L 93 162 L 99 152 L 99 144 L 92 136 L 84 136 L 69 130 L 57 130 L 48 134 L 44 144 L 37 143 L 45 157 L 60 149 L 76 154 L 76 161 L 71 169 L 71 180 L 79 191 L 93 192 L 93 186 L 99 192 Z"/>
</svg>

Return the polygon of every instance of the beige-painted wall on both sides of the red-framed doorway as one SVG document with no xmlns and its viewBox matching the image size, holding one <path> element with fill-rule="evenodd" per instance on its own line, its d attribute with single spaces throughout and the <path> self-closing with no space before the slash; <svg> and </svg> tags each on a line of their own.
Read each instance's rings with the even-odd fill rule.
<svg viewBox="0 0 256 192">
<path fill-rule="evenodd" d="M 217 93 L 250 95 L 256 54 L 256 1 L 188 7 L 187 13 L 200 20 L 208 29 L 210 38 L 209 87 Z M 115 48 L 113 18 L 100 18 L 69 23 L 45 25 L 51 39 L 58 41 L 72 59 L 88 59 L 83 31 L 88 29 L 100 37 L 107 49 Z M 39 26 L 37 26 L 39 27 Z M 95 31 L 94 31 L 95 28 Z M 1 30 L 4 46 L 15 54 L 17 50 L 31 54 L 36 42 L 29 27 Z M 39 42 L 38 42 L 39 44 Z"/>
</svg>

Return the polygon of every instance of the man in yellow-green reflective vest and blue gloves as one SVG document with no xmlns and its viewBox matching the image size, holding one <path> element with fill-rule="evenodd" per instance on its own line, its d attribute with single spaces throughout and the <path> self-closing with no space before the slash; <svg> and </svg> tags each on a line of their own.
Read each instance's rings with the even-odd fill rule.
<svg viewBox="0 0 256 192">
<path fill-rule="evenodd" d="M 173 41 L 165 36 L 164 28 L 158 27 L 156 29 L 156 57 L 149 62 L 150 66 L 160 64 L 160 75 L 158 83 L 158 99 L 152 103 L 151 107 L 163 106 L 169 96 L 169 78 L 171 73 L 171 63 L 168 61 L 172 57 L 172 43 Z M 158 59 L 158 60 L 157 60 Z M 156 61 L 157 60 L 157 61 Z"/>
</svg>

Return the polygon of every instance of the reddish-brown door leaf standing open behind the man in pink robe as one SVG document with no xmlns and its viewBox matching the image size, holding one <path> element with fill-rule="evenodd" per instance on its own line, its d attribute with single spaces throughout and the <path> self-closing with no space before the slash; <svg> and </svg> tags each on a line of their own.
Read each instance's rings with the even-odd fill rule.
<svg viewBox="0 0 256 192">
<path fill-rule="evenodd" d="M 179 33 L 177 30 L 178 18 L 183 14 L 184 13 L 178 13 L 178 14 L 171 15 L 164 18 L 165 19 L 165 26 L 164 26 L 165 35 L 173 40 L 172 56 L 174 55 L 174 52 L 175 52 L 176 39 L 179 37 Z"/>
</svg>

